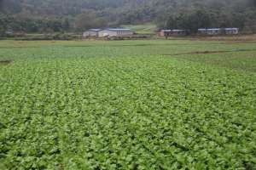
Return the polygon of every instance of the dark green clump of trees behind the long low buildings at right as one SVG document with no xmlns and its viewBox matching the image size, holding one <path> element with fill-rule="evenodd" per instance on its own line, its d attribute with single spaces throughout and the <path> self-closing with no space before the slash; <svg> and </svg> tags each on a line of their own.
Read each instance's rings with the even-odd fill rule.
<svg viewBox="0 0 256 170">
<path fill-rule="evenodd" d="M 182 29 L 196 33 L 199 28 L 228 28 L 236 27 L 241 31 L 256 32 L 256 13 L 221 14 L 207 9 L 196 9 L 185 13 L 170 15 L 160 27 L 165 29 Z"/>
</svg>

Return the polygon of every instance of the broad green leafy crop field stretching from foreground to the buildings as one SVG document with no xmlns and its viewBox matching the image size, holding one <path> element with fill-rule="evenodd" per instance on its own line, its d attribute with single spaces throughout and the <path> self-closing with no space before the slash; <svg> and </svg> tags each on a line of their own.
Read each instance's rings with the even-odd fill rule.
<svg viewBox="0 0 256 170">
<path fill-rule="evenodd" d="M 256 43 L 0 41 L 0 169 L 255 169 Z"/>
</svg>

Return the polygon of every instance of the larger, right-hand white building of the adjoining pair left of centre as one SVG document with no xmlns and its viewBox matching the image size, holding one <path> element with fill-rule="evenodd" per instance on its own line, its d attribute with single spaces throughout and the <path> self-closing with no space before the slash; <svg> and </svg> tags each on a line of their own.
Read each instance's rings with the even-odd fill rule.
<svg viewBox="0 0 256 170">
<path fill-rule="evenodd" d="M 127 37 L 133 35 L 133 31 L 125 28 L 108 28 L 99 31 L 98 37 Z"/>
</svg>

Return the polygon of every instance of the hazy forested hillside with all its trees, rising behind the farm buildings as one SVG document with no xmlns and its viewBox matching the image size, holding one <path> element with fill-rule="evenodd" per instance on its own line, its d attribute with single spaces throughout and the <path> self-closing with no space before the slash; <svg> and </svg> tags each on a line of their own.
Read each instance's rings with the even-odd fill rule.
<svg viewBox="0 0 256 170">
<path fill-rule="evenodd" d="M 0 32 L 82 31 L 155 23 L 160 28 L 256 31 L 256 0 L 0 0 Z"/>
</svg>

